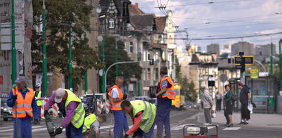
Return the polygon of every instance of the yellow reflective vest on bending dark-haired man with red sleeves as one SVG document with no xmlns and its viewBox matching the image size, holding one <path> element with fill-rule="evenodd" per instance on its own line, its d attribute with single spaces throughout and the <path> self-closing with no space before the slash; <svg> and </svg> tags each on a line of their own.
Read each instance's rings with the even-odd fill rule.
<svg viewBox="0 0 282 138">
<path fill-rule="evenodd" d="M 149 133 L 154 124 L 154 119 L 156 118 L 156 106 L 143 100 L 132 100 L 130 104 L 133 107 L 133 113 L 130 113 L 132 118 L 134 118 L 139 111 L 143 111 L 139 128 L 143 130 L 144 133 Z"/>
</svg>

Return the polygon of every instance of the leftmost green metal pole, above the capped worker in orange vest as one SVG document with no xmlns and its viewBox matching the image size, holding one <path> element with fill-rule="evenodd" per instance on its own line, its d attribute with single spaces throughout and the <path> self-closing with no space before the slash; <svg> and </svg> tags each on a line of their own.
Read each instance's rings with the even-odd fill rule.
<svg viewBox="0 0 282 138">
<path fill-rule="evenodd" d="M 16 34 L 14 32 L 14 0 L 12 0 L 12 87 L 16 87 L 14 81 L 16 81 Z"/>
</svg>

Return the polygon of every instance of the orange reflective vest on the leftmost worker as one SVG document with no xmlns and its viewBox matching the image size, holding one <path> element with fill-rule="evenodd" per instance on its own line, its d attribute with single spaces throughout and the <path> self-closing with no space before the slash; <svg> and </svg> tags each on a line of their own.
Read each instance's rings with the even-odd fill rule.
<svg viewBox="0 0 282 138">
<path fill-rule="evenodd" d="M 18 87 L 12 89 L 13 95 L 18 95 L 16 99 L 16 108 L 12 107 L 12 115 L 13 118 L 25 118 L 29 115 L 31 118 L 34 116 L 32 113 L 32 100 L 34 99 L 34 90 L 27 87 L 30 92 L 25 94 L 25 99 L 23 99 L 23 95 L 19 92 Z"/>
</svg>

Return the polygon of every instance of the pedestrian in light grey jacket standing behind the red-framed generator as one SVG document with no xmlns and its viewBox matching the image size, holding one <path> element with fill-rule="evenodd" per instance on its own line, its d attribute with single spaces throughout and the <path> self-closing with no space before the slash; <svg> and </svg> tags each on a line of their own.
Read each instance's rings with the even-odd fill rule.
<svg viewBox="0 0 282 138">
<path fill-rule="evenodd" d="M 213 100 L 211 95 L 209 94 L 208 89 L 206 89 L 206 85 L 201 85 L 202 91 L 202 102 L 204 106 L 204 118 L 206 119 L 207 124 L 211 124 L 211 108 L 213 107 Z"/>
</svg>

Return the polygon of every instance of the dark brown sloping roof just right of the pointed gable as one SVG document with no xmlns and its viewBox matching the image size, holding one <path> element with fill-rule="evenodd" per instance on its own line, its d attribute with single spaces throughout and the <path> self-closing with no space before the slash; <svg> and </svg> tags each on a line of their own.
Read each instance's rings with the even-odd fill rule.
<svg viewBox="0 0 282 138">
<path fill-rule="evenodd" d="M 154 25 L 154 15 L 153 14 L 144 14 L 130 16 L 130 23 L 135 29 L 147 30 L 148 27 L 153 27 Z"/>
</svg>

